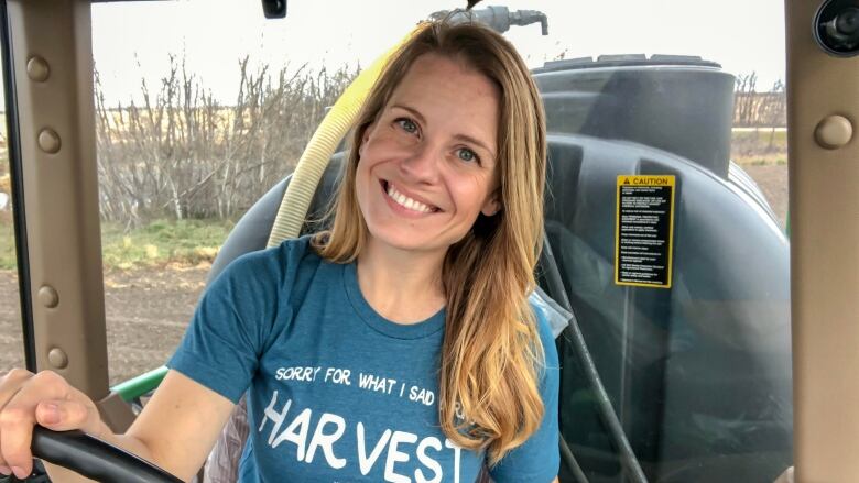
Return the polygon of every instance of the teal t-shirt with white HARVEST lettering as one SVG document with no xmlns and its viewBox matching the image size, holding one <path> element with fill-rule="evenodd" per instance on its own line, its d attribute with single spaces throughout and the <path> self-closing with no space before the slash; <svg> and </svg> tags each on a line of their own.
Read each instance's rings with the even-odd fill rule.
<svg viewBox="0 0 859 483">
<path fill-rule="evenodd" d="M 546 354 L 540 430 L 490 469 L 504 482 L 558 471 L 558 363 Z M 361 295 L 355 264 L 331 264 L 308 238 L 236 260 L 206 290 L 168 366 L 232 402 L 249 389 L 242 482 L 474 482 L 483 454 L 438 422 L 444 310 L 400 325 Z"/>
</svg>

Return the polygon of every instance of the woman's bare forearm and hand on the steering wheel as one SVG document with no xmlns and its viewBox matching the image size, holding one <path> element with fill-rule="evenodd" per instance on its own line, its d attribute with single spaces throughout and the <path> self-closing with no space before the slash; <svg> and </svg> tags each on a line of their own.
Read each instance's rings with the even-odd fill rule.
<svg viewBox="0 0 859 483">
<path fill-rule="evenodd" d="M 95 403 L 56 373 L 15 369 L 0 380 L 0 472 L 25 477 L 33 468 L 33 426 L 79 429 L 148 460 L 184 481 L 206 460 L 232 402 L 175 371 L 124 435 L 113 435 Z"/>
</svg>

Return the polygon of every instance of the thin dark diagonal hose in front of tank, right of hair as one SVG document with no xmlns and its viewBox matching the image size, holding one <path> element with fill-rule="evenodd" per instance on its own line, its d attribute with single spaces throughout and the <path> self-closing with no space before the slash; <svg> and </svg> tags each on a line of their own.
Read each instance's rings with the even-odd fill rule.
<svg viewBox="0 0 859 483">
<path fill-rule="evenodd" d="M 552 253 L 552 248 L 548 244 L 548 237 L 545 231 L 543 232 L 543 275 L 547 284 L 548 295 L 558 303 L 562 307 L 573 312 L 573 306 L 569 304 L 564 283 L 561 279 L 561 273 L 558 272 L 557 264 L 555 263 L 555 255 Z M 633 483 L 648 483 L 648 477 L 644 475 L 644 471 L 639 464 L 635 453 L 632 451 L 632 447 L 627 439 L 627 435 L 623 431 L 623 427 L 620 425 L 618 415 L 615 413 L 615 408 L 611 406 L 611 400 L 608 397 L 606 388 L 602 386 L 602 381 L 597 372 L 597 366 L 594 364 L 594 358 L 590 356 L 585 337 L 581 333 L 581 329 L 578 327 L 578 321 L 573 317 L 569 321 L 569 326 L 562 332 L 564 339 L 570 344 L 573 352 L 578 358 L 578 362 L 581 365 L 585 377 L 590 385 L 590 389 L 594 391 L 597 403 L 598 413 L 609 431 L 609 436 L 615 440 L 615 444 L 618 449 L 621 465 L 630 481 Z M 562 438 L 563 440 L 563 438 Z M 563 452 L 562 452 L 563 454 Z M 570 457 L 573 453 L 570 452 Z M 575 462 L 575 459 L 573 460 Z M 579 470 L 580 471 L 580 470 Z M 584 474 L 583 474 L 584 475 Z"/>
</svg>

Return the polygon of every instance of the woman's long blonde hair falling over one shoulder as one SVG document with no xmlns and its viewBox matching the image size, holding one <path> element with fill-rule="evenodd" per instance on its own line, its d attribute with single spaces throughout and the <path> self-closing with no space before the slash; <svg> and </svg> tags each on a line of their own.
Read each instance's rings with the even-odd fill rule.
<svg viewBox="0 0 859 483">
<path fill-rule="evenodd" d="M 537 382 L 543 348 L 528 294 L 535 285 L 543 242 L 545 121 L 528 67 L 509 42 L 477 24 L 435 22 L 391 57 L 356 123 L 330 229 L 315 237 L 314 246 L 336 263 L 351 262 L 363 250 L 368 229 L 356 197 L 358 147 L 400 79 L 427 53 L 460 61 L 501 92 L 497 138 L 501 210 L 492 217 L 480 215 L 445 256 L 442 282 L 447 304 L 438 394 L 445 435 L 463 448 L 485 449 L 494 464 L 536 431 L 544 413 Z"/>
</svg>

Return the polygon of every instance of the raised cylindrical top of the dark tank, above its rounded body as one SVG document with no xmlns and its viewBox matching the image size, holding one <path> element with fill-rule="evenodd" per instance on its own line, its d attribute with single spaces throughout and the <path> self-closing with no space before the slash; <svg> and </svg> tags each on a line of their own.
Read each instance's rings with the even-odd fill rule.
<svg viewBox="0 0 859 483">
<path fill-rule="evenodd" d="M 634 141 L 727 177 L 735 77 L 682 55 L 604 55 L 533 70 L 551 132 Z"/>
</svg>

